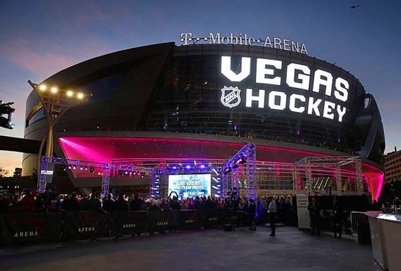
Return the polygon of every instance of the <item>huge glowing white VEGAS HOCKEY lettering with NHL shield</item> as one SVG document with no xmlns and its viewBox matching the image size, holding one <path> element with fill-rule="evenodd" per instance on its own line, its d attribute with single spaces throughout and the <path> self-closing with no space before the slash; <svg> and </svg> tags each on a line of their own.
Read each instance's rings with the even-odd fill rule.
<svg viewBox="0 0 401 271">
<path fill-rule="evenodd" d="M 221 89 L 224 106 L 239 106 L 242 88 L 246 108 L 290 110 L 343 122 L 349 97 L 349 82 L 344 78 L 304 64 L 284 64 L 275 59 L 242 57 L 235 71 L 231 62 L 230 56 L 221 56 L 221 74 L 234 85 L 226 84 Z M 251 71 L 255 72 L 251 74 Z M 257 89 L 246 84 L 257 85 Z"/>
</svg>

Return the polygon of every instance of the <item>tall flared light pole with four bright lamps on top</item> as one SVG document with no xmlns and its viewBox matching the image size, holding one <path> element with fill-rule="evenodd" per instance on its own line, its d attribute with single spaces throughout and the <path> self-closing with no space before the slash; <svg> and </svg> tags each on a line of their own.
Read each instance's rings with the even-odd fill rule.
<svg viewBox="0 0 401 271">
<path fill-rule="evenodd" d="M 41 141 L 38 156 L 37 191 L 39 193 L 44 193 L 47 185 L 47 176 L 52 175 L 52 173 L 50 174 L 50 171 L 47 170 L 47 166 L 53 155 L 53 127 L 69 108 L 85 102 L 87 100 L 87 95 L 82 92 L 72 91 L 71 89 L 59 89 L 57 86 L 50 87 L 45 84 L 35 84 L 30 80 L 28 80 L 28 83 L 38 95 L 39 101 L 42 104 L 41 107 L 45 111 L 45 116 L 49 124 L 47 134 L 45 134 Z M 38 106 L 37 110 L 40 110 L 41 107 Z M 43 146 L 46 139 L 45 156 L 42 158 Z"/>
</svg>

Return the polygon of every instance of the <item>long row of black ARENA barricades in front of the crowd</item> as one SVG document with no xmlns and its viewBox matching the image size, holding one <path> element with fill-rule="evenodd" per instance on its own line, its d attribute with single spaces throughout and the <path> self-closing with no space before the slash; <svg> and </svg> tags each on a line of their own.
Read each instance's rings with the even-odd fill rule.
<svg viewBox="0 0 401 271">
<path fill-rule="evenodd" d="M 0 246 L 221 227 L 239 220 L 245 224 L 246 217 L 244 211 L 221 209 L 4 213 L 0 214 Z"/>
</svg>

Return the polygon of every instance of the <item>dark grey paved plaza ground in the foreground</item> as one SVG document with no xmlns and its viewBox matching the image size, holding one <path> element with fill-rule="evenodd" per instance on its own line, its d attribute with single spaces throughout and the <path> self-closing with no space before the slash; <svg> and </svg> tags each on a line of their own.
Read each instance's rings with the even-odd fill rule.
<svg viewBox="0 0 401 271">
<path fill-rule="evenodd" d="M 281 226 L 0 249 L 0 270 L 381 270 L 370 246 Z"/>
</svg>

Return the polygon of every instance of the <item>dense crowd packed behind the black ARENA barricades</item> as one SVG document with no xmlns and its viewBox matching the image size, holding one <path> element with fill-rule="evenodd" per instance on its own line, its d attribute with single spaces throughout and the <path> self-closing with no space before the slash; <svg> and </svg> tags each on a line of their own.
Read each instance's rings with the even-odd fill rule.
<svg viewBox="0 0 401 271">
<path fill-rule="evenodd" d="M 58 194 L 49 191 L 39 194 L 25 190 L 21 193 L 0 193 L 0 213 L 18 212 L 54 212 L 54 211 L 178 211 L 199 209 L 233 209 L 251 213 L 259 213 L 259 219 L 267 217 L 268 207 L 273 198 L 259 196 L 257 201 L 246 197 L 228 196 L 227 198 L 211 198 L 210 196 L 178 199 L 154 199 L 141 197 L 138 193 L 128 195 L 118 193 L 113 196 L 109 193 L 102 198 L 100 193 L 90 195 L 79 193 Z M 277 208 L 281 214 L 292 209 L 290 197 L 277 198 Z M 253 228 L 253 226 L 252 226 Z"/>
</svg>

